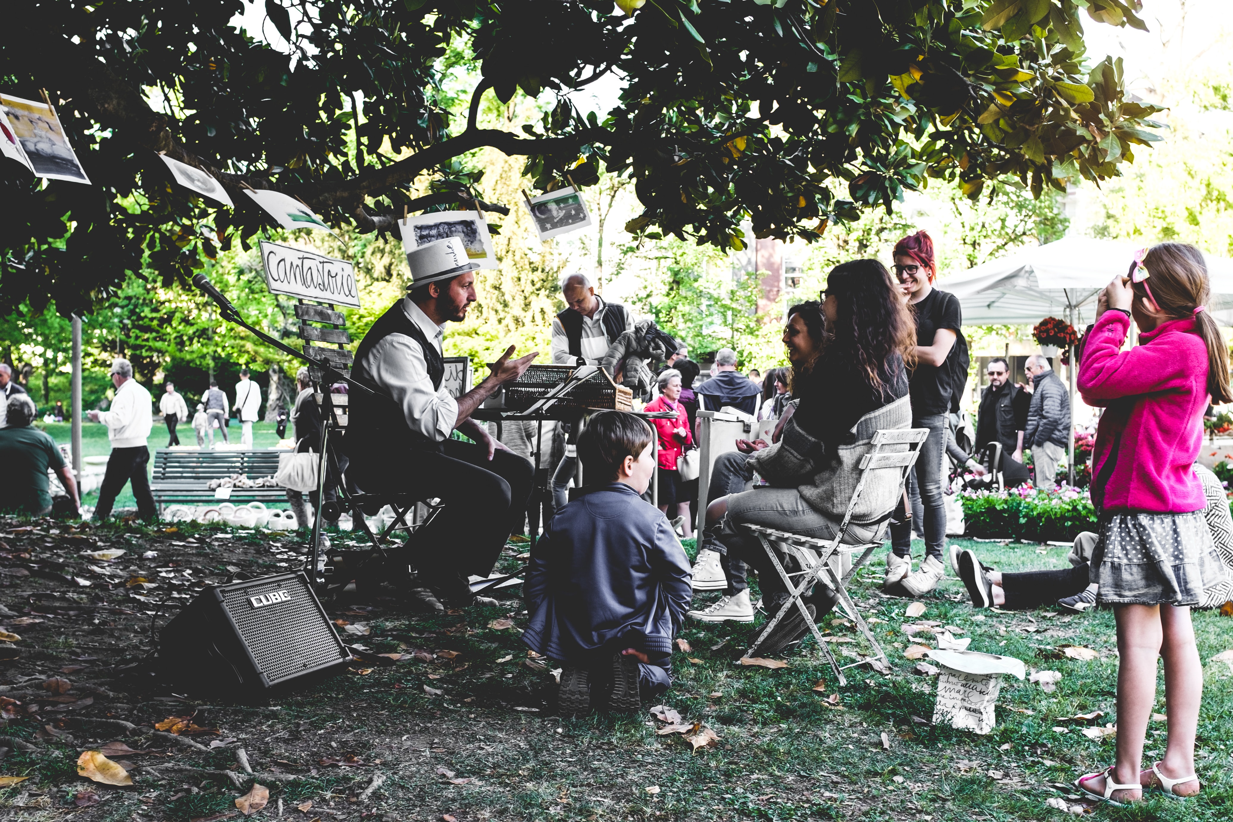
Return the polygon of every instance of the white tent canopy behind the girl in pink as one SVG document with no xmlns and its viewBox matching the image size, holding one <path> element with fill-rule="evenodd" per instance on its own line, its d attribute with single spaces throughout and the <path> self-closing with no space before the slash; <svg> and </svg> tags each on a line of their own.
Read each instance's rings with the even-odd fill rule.
<svg viewBox="0 0 1233 822">
<path fill-rule="evenodd" d="M 1126 275 L 1143 245 L 1149 244 L 1068 237 L 942 277 L 937 286 L 959 298 L 964 325 L 1036 324 L 1059 317 L 1081 333 L 1095 320 L 1100 292 L 1115 276 Z M 1233 325 L 1233 260 L 1205 256 L 1212 277 L 1208 309 L 1221 325 Z"/>
</svg>

